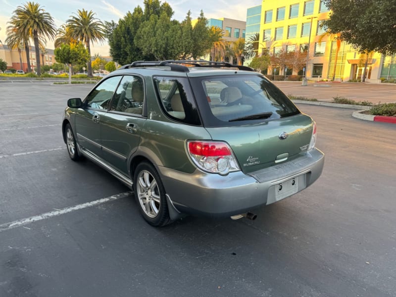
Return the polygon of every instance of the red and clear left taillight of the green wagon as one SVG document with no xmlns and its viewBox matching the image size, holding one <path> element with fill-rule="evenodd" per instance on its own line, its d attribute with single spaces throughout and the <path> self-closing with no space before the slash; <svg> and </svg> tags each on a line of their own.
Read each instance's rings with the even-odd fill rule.
<svg viewBox="0 0 396 297">
<path fill-rule="evenodd" d="M 187 149 L 193 162 L 206 172 L 225 175 L 240 170 L 231 148 L 224 142 L 189 141 Z"/>
</svg>

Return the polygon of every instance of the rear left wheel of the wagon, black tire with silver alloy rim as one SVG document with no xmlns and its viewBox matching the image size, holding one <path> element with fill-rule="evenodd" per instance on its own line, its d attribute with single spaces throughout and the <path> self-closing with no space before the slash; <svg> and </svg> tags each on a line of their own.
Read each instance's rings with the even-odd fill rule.
<svg viewBox="0 0 396 297">
<path fill-rule="evenodd" d="M 154 166 L 144 161 L 136 167 L 133 189 L 139 210 L 148 224 L 160 227 L 171 222 L 165 189 Z"/>
</svg>

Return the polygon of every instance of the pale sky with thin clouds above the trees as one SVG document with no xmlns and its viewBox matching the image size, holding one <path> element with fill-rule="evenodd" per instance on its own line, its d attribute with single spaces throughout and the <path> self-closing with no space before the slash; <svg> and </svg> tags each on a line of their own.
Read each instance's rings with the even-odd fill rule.
<svg viewBox="0 0 396 297">
<path fill-rule="evenodd" d="M 53 17 L 56 27 L 60 27 L 77 12 L 78 9 L 92 10 L 95 17 L 104 21 L 114 20 L 118 22 L 128 11 L 133 11 L 138 5 L 143 7 L 143 0 L 31 0 L 39 3 L 45 11 Z M 20 0 L 0 0 L 0 40 L 4 42 L 7 22 L 12 12 L 27 1 Z M 165 2 L 165 1 L 161 1 Z M 201 10 L 206 18 L 231 18 L 246 21 L 247 8 L 261 4 L 261 0 L 168 0 L 174 11 L 173 18 L 182 21 L 189 10 L 192 18 L 199 16 Z M 47 48 L 53 49 L 53 42 L 47 42 Z M 107 42 L 94 44 L 91 47 L 91 54 L 99 53 L 101 56 L 108 56 Z"/>
</svg>

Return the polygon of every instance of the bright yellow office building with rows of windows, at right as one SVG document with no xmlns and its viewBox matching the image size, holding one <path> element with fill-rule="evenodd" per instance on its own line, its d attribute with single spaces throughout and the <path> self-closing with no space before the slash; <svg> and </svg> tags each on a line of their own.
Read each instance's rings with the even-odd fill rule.
<svg viewBox="0 0 396 297">
<path fill-rule="evenodd" d="M 263 0 L 258 53 L 274 54 L 282 49 L 309 48 L 308 79 L 331 79 L 333 75 L 341 81 L 361 79 L 365 57 L 345 42 L 338 47 L 335 37 L 326 35 L 320 26 L 329 13 L 323 0 Z M 383 66 L 387 59 L 390 57 L 382 57 L 379 53 L 368 59 L 366 81 L 380 82 L 386 72 Z M 274 68 L 275 65 L 268 69 L 269 74 L 285 74 L 285 69 Z M 305 74 L 303 72 L 301 69 L 289 69 L 287 74 Z"/>
</svg>

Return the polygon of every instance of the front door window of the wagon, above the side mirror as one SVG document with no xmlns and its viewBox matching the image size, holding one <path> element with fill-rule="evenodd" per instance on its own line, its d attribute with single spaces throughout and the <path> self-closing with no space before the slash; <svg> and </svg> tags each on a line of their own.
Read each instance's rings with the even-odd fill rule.
<svg viewBox="0 0 396 297">
<path fill-rule="evenodd" d="M 96 109 L 107 109 L 121 77 L 122 76 L 113 76 L 101 82 L 99 86 L 88 94 L 87 98 L 84 100 L 85 106 Z"/>
</svg>

